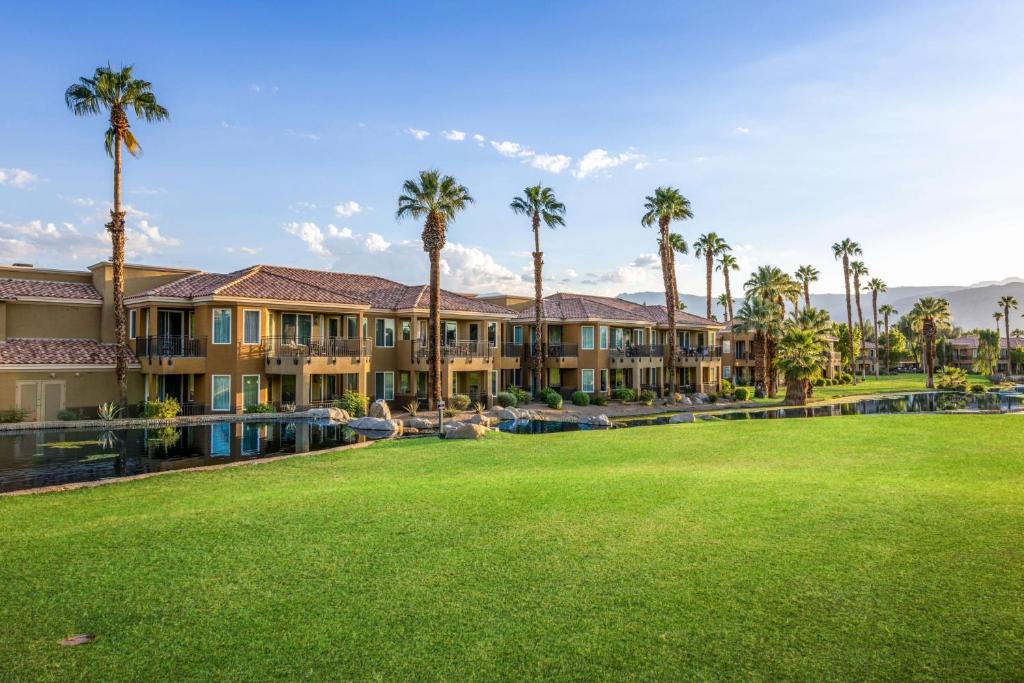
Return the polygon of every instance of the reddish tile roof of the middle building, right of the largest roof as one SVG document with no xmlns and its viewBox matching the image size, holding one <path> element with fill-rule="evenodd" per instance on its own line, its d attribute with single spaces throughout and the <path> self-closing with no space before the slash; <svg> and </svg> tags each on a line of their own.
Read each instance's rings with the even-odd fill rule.
<svg viewBox="0 0 1024 683">
<path fill-rule="evenodd" d="M 544 316 L 548 321 L 563 322 L 599 319 L 655 326 L 669 323 L 665 306 L 645 306 L 626 299 L 591 294 L 552 294 L 545 297 Z M 520 312 L 516 321 L 532 322 L 534 307 Z M 721 327 L 722 324 L 685 311 L 676 311 L 676 326 Z"/>
</svg>

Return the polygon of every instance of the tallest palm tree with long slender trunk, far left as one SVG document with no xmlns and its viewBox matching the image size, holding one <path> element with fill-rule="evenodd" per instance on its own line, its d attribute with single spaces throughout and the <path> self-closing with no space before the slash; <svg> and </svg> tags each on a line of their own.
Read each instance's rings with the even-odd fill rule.
<svg viewBox="0 0 1024 683">
<path fill-rule="evenodd" d="M 106 230 L 111 233 L 111 269 L 114 285 L 114 334 L 117 341 L 116 377 L 121 411 L 128 408 L 128 326 L 125 322 L 125 212 L 121 208 L 121 145 L 137 157 L 141 152 L 131 132 L 128 112 L 147 122 L 163 121 L 170 115 L 157 102 L 153 84 L 132 76 L 131 67 L 114 70 L 110 65 L 96 69 L 92 78 L 82 77 L 65 91 L 65 103 L 75 116 L 108 113 L 110 128 L 104 145 L 114 159 L 114 208 Z"/>
</svg>

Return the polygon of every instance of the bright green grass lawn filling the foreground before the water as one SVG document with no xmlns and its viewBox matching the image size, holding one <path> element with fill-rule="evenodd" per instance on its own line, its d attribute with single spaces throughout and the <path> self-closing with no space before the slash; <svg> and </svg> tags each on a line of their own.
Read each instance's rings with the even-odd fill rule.
<svg viewBox="0 0 1024 683">
<path fill-rule="evenodd" d="M 1022 420 L 409 440 L 0 499 L 0 680 L 1019 678 Z"/>
</svg>

